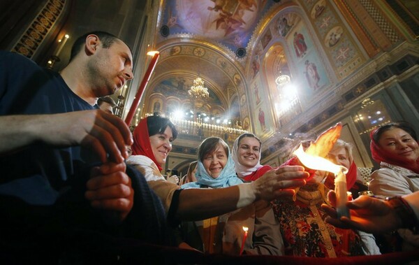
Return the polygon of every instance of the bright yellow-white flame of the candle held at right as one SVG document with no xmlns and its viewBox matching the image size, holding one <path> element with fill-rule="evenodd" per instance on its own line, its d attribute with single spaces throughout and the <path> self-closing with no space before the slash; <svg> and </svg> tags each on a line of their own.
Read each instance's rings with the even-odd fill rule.
<svg viewBox="0 0 419 265">
<path fill-rule="evenodd" d="M 296 155 L 298 159 L 300 160 L 300 162 L 304 166 L 307 166 L 307 168 L 309 169 L 329 171 L 329 172 L 335 173 L 335 175 L 337 175 L 339 172 L 342 172 L 342 173 L 348 172 L 348 169 L 346 169 L 346 167 L 344 166 L 333 164 L 328 159 L 325 159 L 323 157 L 316 157 L 314 155 L 307 154 L 302 149 L 302 145 L 300 145 L 300 147 L 297 150 L 295 150 L 293 154 Z"/>
</svg>

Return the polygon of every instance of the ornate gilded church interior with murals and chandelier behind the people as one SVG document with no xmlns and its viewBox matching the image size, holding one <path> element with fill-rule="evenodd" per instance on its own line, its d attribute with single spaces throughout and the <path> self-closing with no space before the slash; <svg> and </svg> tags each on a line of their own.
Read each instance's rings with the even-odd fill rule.
<svg viewBox="0 0 419 265">
<path fill-rule="evenodd" d="M 369 131 L 397 120 L 419 129 L 416 1 L 27 0 L 1 10 L 1 48 L 56 71 L 87 31 L 124 40 L 134 78 L 112 95 L 115 113 L 136 108 L 131 127 L 170 117 L 179 137 L 165 169 L 181 174 L 207 136 L 232 144 L 250 131 L 263 164 L 279 166 L 293 145 L 341 122 L 355 162 L 372 168 Z"/>
</svg>

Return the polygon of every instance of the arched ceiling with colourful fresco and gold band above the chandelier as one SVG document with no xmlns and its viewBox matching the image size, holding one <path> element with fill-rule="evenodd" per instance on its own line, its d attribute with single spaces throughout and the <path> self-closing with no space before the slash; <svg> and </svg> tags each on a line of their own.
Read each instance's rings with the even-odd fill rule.
<svg viewBox="0 0 419 265">
<path fill-rule="evenodd" d="M 263 24 L 267 11 L 280 4 L 277 2 L 162 1 L 157 23 L 160 34 L 156 36 L 161 57 L 151 87 L 167 77 L 191 80 L 199 73 L 223 108 L 229 108 L 234 98 L 245 94 L 242 80 L 246 79 L 244 69 L 255 29 Z"/>
</svg>

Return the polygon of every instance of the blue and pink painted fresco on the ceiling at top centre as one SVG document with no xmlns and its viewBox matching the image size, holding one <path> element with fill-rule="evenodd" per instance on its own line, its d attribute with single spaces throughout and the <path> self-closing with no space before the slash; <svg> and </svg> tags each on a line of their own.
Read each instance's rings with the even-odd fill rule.
<svg viewBox="0 0 419 265">
<path fill-rule="evenodd" d="M 274 2 L 267 0 L 167 1 L 163 24 L 170 29 L 170 35 L 205 36 L 237 52 L 240 48 L 247 48 L 253 29 Z"/>
</svg>

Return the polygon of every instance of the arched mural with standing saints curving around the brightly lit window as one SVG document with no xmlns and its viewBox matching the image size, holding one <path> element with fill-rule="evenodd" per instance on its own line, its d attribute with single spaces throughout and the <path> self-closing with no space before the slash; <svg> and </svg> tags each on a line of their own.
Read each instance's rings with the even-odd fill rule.
<svg viewBox="0 0 419 265">
<path fill-rule="evenodd" d="M 310 34 L 311 33 L 311 34 Z M 265 83 L 267 80 L 263 78 L 275 78 L 275 76 L 265 76 L 260 73 L 263 71 L 263 59 L 267 50 L 274 43 L 281 41 L 286 45 L 286 57 L 288 62 L 292 62 L 293 82 L 298 91 L 300 101 L 312 103 L 310 101 L 325 87 L 330 85 L 330 79 L 325 70 L 324 61 L 318 54 L 312 40 L 313 32 L 307 31 L 307 25 L 304 20 L 296 13 L 279 14 L 274 17 L 266 30 L 261 34 L 260 40 L 256 45 L 256 52 L 251 59 L 251 67 L 249 68 L 249 78 L 251 87 L 249 96 L 251 98 L 251 109 L 253 110 L 253 126 L 254 130 L 260 136 L 274 133 L 270 129 L 273 126 L 273 117 L 270 106 L 274 106 L 275 102 L 260 105 L 260 102 L 269 101 L 270 89 L 267 89 Z M 261 50 L 260 50 L 261 49 Z M 275 72 L 275 71 L 274 71 Z M 275 97 L 271 97 L 272 100 Z"/>
</svg>

